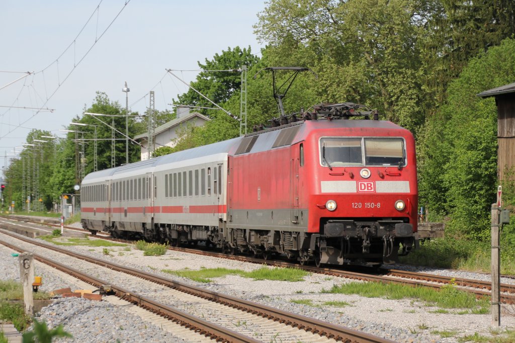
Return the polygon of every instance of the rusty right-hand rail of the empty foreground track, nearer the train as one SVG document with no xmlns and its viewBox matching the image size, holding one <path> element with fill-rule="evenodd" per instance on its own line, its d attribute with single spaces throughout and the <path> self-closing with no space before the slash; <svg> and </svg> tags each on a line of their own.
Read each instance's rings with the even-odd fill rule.
<svg viewBox="0 0 515 343">
<path fill-rule="evenodd" d="M 287 311 L 280 310 L 278 308 L 274 308 L 271 306 L 267 306 L 264 304 L 254 303 L 251 301 L 239 299 L 236 297 L 232 297 L 229 295 L 221 294 L 215 291 L 203 289 L 200 287 L 196 287 L 193 285 L 188 285 L 179 281 L 172 281 L 158 275 L 148 273 L 142 270 L 118 265 L 115 263 L 107 262 L 107 261 L 99 261 L 91 258 L 87 255 L 82 255 L 80 253 L 72 252 L 69 250 L 63 250 L 57 248 L 53 245 L 49 245 L 42 242 L 35 242 L 32 239 L 25 238 L 22 236 L 14 235 L 5 230 L 1 231 L 4 234 L 7 234 L 16 239 L 21 239 L 24 242 L 35 244 L 50 250 L 58 251 L 60 253 L 64 253 L 75 258 L 81 259 L 83 261 L 87 261 L 90 263 L 94 263 L 103 267 L 110 268 L 112 270 L 116 270 L 119 272 L 124 272 L 132 276 L 140 277 L 142 279 L 152 281 L 179 291 L 183 293 L 194 295 L 203 299 L 208 299 L 214 302 L 218 302 L 238 310 L 252 313 L 254 315 L 261 316 L 263 318 L 268 318 L 273 321 L 278 321 L 280 323 L 284 323 L 294 328 L 298 328 L 300 330 L 305 330 L 307 332 L 312 332 L 314 334 L 318 334 L 320 336 L 326 336 L 328 338 L 333 338 L 335 340 L 342 340 L 344 342 L 352 341 L 352 342 L 366 342 L 366 343 L 387 343 L 392 342 L 391 340 L 384 339 L 381 337 L 373 336 L 371 334 L 359 332 L 357 330 L 349 329 L 346 327 L 342 327 L 341 325 L 335 325 L 332 323 L 324 322 L 315 318 L 309 318 L 306 316 L 298 315 L 295 313 L 290 313 Z"/>
</svg>

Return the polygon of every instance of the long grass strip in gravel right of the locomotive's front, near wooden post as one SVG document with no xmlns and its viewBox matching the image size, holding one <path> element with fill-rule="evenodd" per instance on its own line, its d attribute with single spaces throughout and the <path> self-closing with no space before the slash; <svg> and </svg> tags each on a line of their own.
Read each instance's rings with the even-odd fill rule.
<svg viewBox="0 0 515 343">
<path fill-rule="evenodd" d="M 349 282 L 333 285 L 329 290 L 322 289 L 322 293 L 357 294 L 367 298 L 386 299 L 419 299 L 428 306 L 440 308 L 466 308 L 471 311 L 489 311 L 489 298 L 476 300 L 475 296 L 466 291 L 456 289 L 452 284 L 445 285 L 440 290 L 428 287 L 411 287 L 407 285 L 382 282 Z"/>
</svg>

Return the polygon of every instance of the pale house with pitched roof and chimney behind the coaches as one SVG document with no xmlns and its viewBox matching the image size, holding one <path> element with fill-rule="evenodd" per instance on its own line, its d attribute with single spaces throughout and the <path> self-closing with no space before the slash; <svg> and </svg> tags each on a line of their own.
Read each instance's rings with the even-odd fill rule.
<svg viewBox="0 0 515 343">
<path fill-rule="evenodd" d="M 198 112 L 190 112 L 188 107 L 177 107 L 177 117 L 154 130 L 154 146 L 151 151 L 162 147 L 174 147 L 176 145 L 175 139 L 178 137 L 177 132 L 181 127 L 187 125 L 203 126 L 209 122 L 210 119 Z M 148 132 L 138 134 L 134 137 L 135 141 L 140 142 L 141 146 L 141 160 L 148 160 L 150 158 L 148 147 Z"/>
</svg>

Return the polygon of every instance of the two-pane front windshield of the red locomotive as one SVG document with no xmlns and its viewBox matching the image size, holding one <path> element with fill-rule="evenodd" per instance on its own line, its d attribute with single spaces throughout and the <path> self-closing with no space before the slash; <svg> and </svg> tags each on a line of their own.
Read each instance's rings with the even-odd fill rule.
<svg viewBox="0 0 515 343">
<path fill-rule="evenodd" d="M 320 161 L 324 166 L 404 166 L 402 138 L 322 138 Z"/>
</svg>

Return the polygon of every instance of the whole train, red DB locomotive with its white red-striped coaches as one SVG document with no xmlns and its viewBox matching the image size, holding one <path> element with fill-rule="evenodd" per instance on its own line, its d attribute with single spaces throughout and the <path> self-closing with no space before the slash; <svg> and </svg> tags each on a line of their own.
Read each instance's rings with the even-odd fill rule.
<svg viewBox="0 0 515 343">
<path fill-rule="evenodd" d="M 408 130 L 351 103 L 275 124 L 88 175 L 83 227 L 318 266 L 392 263 L 417 247 Z"/>
</svg>

